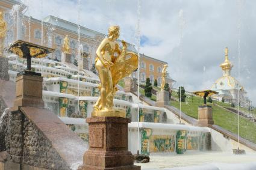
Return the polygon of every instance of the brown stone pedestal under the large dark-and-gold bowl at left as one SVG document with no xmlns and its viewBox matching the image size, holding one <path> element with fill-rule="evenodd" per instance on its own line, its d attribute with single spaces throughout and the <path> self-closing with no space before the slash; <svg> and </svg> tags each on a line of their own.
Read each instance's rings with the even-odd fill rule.
<svg viewBox="0 0 256 170">
<path fill-rule="evenodd" d="M 18 110 L 19 106 L 44 108 L 42 83 L 43 77 L 40 73 L 33 71 L 18 73 L 16 77 L 16 99 L 12 110 Z"/>
</svg>

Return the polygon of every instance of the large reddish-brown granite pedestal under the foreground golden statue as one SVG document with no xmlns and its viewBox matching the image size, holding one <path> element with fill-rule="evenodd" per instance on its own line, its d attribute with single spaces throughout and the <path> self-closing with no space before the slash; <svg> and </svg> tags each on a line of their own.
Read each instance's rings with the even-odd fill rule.
<svg viewBox="0 0 256 170">
<path fill-rule="evenodd" d="M 89 123 L 89 150 L 78 169 L 140 170 L 140 166 L 133 165 L 134 156 L 128 151 L 128 118 L 91 117 L 86 122 Z"/>
</svg>

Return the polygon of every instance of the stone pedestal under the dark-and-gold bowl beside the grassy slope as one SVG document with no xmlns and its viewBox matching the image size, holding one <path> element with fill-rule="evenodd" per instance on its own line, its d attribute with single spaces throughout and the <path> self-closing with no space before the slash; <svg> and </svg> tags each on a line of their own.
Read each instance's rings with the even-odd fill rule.
<svg viewBox="0 0 256 170">
<path fill-rule="evenodd" d="M 213 109 L 211 106 L 202 105 L 198 107 L 198 126 L 209 126 L 213 122 Z"/>
</svg>

